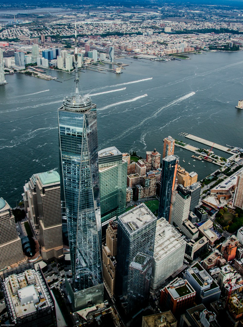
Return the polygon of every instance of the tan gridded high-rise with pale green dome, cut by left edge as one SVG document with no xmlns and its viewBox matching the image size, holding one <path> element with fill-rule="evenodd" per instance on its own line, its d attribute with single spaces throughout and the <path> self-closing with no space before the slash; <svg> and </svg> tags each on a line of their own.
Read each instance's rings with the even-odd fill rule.
<svg viewBox="0 0 243 327">
<path fill-rule="evenodd" d="M 0 198 L 0 269 L 22 261 L 21 239 L 9 204 Z"/>
</svg>

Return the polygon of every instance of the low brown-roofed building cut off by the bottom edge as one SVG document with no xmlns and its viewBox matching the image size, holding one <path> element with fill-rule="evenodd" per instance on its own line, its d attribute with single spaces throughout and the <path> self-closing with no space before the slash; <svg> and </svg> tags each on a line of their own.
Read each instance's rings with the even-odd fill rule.
<svg viewBox="0 0 243 327">
<path fill-rule="evenodd" d="M 176 327 L 177 320 L 171 311 L 143 316 L 142 327 Z"/>
</svg>

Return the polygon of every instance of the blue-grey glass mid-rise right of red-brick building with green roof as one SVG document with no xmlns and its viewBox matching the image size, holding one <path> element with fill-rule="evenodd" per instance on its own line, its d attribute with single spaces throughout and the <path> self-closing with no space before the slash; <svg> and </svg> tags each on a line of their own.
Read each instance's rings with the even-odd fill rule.
<svg viewBox="0 0 243 327">
<path fill-rule="evenodd" d="M 211 303 L 220 298 L 220 287 L 206 270 L 196 262 L 187 269 L 186 280 L 196 291 L 196 300 L 198 303 Z"/>
</svg>

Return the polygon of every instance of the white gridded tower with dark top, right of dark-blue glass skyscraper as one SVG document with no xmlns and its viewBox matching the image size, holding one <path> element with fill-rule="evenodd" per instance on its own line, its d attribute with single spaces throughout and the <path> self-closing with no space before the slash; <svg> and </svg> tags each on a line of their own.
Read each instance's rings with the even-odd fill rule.
<svg viewBox="0 0 243 327">
<path fill-rule="evenodd" d="M 181 229 L 183 221 L 188 220 L 191 196 L 189 190 L 181 184 L 177 186 L 176 191 L 173 223 Z"/>
</svg>

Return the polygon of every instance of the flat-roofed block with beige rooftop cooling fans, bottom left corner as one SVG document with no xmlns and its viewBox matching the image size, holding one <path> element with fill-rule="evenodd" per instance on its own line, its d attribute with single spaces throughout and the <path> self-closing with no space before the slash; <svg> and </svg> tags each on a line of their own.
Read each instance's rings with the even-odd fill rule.
<svg viewBox="0 0 243 327">
<path fill-rule="evenodd" d="M 11 326 L 57 327 L 55 302 L 40 266 L 5 270 L 1 286 Z"/>
</svg>

